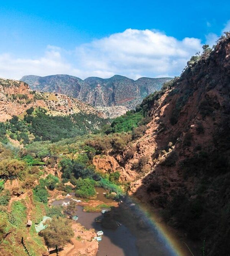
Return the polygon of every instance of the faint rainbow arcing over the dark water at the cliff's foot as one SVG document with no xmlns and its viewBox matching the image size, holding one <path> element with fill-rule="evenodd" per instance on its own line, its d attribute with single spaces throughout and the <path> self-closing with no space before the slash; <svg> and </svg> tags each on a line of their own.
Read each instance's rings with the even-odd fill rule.
<svg viewBox="0 0 230 256">
<path fill-rule="evenodd" d="M 138 203 L 135 207 L 148 219 L 170 256 L 194 256 L 187 244 L 179 241 L 176 235 L 169 231 L 169 228 L 164 223 L 159 221 L 159 217 L 148 206 Z"/>
</svg>

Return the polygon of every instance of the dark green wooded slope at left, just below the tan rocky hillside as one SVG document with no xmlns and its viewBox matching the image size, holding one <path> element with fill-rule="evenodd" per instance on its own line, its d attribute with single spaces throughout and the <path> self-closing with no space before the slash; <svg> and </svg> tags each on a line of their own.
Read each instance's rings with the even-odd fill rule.
<svg viewBox="0 0 230 256">
<path fill-rule="evenodd" d="M 26 110 L 23 120 L 13 116 L 5 123 L 0 123 L 0 142 L 9 142 L 7 135 L 23 144 L 33 141 L 57 142 L 64 138 L 82 136 L 89 132 L 98 132 L 109 120 L 91 114 L 73 114 L 52 116 L 45 109 Z"/>
</svg>

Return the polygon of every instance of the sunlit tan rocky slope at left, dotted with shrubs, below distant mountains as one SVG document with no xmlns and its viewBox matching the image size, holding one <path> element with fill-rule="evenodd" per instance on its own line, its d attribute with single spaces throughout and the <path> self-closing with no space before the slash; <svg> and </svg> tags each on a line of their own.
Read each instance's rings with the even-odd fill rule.
<svg viewBox="0 0 230 256">
<path fill-rule="evenodd" d="M 13 115 L 24 115 L 30 107 L 45 108 L 52 115 L 82 112 L 107 117 L 101 110 L 67 95 L 35 92 L 25 82 L 0 79 L 0 122 L 11 119 Z"/>
</svg>

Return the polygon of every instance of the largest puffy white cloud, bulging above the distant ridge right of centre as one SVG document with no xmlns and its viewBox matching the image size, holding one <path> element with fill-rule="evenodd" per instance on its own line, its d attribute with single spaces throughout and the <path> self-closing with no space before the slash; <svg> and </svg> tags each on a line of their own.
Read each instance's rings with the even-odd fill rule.
<svg viewBox="0 0 230 256">
<path fill-rule="evenodd" d="M 127 29 L 76 48 L 84 70 L 129 77 L 180 74 L 191 55 L 201 49 L 197 38 L 182 41 L 152 30 Z"/>
</svg>

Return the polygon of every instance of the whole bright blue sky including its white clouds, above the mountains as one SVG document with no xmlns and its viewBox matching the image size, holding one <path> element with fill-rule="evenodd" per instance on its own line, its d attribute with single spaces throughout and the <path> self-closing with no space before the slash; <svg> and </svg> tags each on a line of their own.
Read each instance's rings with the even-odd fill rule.
<svg viewBox="0 0 230 256">
<path fill-rule="evenodd" d="M 174 76 L 230 30 L 228 1 L 0 1 L 0 76 Z"/>
</svg>

